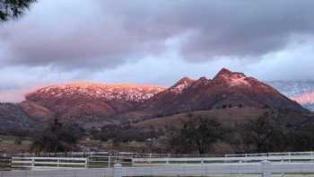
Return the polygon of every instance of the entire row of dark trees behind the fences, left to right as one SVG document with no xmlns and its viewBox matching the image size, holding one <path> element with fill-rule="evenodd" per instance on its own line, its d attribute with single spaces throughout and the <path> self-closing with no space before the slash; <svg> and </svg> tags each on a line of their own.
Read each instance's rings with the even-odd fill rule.
<svg viewBox="0 0 314 177">
<path fill-rule="evenodd" d="M 296 118 L 295 118 L 296 119 Z M 79 150 L 77 142 L 91 137 L 114 144 L 146 142 L 156 153 L 214 154 L 214 146 L 228 146 L 223 153 L 266 153 L 310 151 L 314 149 L 314 124 L 292 123 L 277 111 L 267 111 L 257 119 L 224 125 L 208 115 L 188 113 L 179 127 L 134 128 L 130 124 L 108 125 L 84 130 L 77 124 L 63 124 L 57 119 L 35 137 L 31 147 L 36 152 Z"/>
</svg>

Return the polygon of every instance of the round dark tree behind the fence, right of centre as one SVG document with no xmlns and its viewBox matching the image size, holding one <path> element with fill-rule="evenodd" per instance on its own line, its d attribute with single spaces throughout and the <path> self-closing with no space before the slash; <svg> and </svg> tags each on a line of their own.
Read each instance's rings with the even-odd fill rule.
<svg viewBox="0 0 314 177">
<path fill-rule="evenodd" d="M 192 115 L 182 128 L 171 130 L 169 144 L 176 153 L 203 155 L 223 134 L 222 125 L 216 119 Z"/>
</svg>

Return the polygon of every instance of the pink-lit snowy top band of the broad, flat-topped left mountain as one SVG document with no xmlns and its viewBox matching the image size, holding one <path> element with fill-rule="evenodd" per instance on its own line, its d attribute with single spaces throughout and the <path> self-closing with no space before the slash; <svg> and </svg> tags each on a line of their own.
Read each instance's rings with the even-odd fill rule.
<svg viewBox="0 0 314 177">
<path fill-rule="evenodd" d="M 95 84 L 95 83 L 71 83 L 56 84 L 39 89 L 35 93 L 40 97 L 62 97 L 78 94 L 92 98 L 100 98 L 104 101 L 144 102 L 160 93 L 166 87 L 146 84 Z M 27 95 L 31 97 L 34 93 Z"/>
</svg>

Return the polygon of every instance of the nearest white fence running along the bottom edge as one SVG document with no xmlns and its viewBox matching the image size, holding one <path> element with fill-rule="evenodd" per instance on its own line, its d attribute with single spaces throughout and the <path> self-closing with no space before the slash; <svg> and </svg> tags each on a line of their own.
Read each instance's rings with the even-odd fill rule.
<svg viewBox="0 0 314 177">
<path fill-rule="evenodd" d="M 1 177 L 128 177 L 128 176 L 205 176 L 214 174 L 262 174 L 270 177 L 272 174 L 314 173 L 313 163 L 275 163 L 270 162 L 251 164 L 210 164 L 203 166 L 151 166 L 151 167 L 122 167 L 83 169 L 83 170 L 54 170 L 54 171 L 21 171 L 0 172 Z"/>
</svg>

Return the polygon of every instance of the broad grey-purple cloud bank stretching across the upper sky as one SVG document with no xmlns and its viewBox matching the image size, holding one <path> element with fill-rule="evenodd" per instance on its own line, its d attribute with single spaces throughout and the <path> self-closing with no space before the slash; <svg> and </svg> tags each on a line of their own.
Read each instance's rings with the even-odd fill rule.
<svg viewBox="0 0 314 177">
<path fill-rule="evenodd" d="M 5 49 L 0 60 L 66 69 L 111 68 L 168 48 L 190 62 L 260 57 L 314 32 L 310 0 L 99 0 L 74 7 L 75 1 L 54 2 L 59 6 L 53 10 L 39 2 L 31 9 L 33 15 L 0 27 Z M 48 14 L 39 8 L 57 14 L 45 19 Z M 167 45 L 171 39 L 179 39 L 178 45 Z"/>
</svg>

